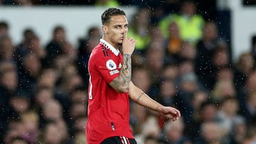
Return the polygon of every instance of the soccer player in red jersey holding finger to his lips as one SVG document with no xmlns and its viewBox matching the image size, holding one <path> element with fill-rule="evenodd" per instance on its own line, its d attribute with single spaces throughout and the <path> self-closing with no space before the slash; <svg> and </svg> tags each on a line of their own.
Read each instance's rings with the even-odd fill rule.
<svg viewBox="0 0 256 144">
<path fill-rule="evenodd" d="M 180 111 L 151 99 L 131 82 L 136 41 L 127 38 L 128 22 L 124 11 L 116 8 L 102 13 L 103 36 L 92 50 L 88 70 L 89 144 L 134 144 L 129 127 L 129 99 L 176 121 Z"/>
</svg>

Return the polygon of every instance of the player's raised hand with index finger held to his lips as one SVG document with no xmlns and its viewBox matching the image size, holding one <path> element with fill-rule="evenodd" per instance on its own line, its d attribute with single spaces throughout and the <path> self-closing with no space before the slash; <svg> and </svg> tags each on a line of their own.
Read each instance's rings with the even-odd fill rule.
<svg viewBox="0 0 256 144">
<path fill-rule="evenodd" d="M 127 31 L 124 32 L 124 39 L 122 42 L 122 51 L 124 54 L 132 55 L 135 49 L 136 40 L 127 38 Z"/>
</svg>

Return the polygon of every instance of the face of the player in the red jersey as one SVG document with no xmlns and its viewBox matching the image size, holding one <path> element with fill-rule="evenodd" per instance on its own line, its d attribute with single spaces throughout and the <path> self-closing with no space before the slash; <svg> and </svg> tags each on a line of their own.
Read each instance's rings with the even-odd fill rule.
<svg viewBox="0 0 256 144">
<path fill-rule="evenodd" d="M 111 45 L 117 47 L 117 45 L 122 44 L 126 31 L 128 31 L 127 18 L 123 15 L 112 16 L 110 23 L 107 25 L 105 36 Z"/>
</svg>

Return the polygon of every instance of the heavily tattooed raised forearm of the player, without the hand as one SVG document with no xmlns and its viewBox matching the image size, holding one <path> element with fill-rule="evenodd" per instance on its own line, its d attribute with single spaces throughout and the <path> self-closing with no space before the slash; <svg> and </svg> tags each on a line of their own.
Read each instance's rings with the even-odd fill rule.
<svg viewBox="0 0 256 144">
<path fill-rule="evenodd" d="M 118 92 L 127 92 L 129 82 L 132 78 L 132 58 L 131 55 L 124 54 L 122 68 L 119 72 L 119 77 L 114 79 L 110 85 Z"/>
</svg>

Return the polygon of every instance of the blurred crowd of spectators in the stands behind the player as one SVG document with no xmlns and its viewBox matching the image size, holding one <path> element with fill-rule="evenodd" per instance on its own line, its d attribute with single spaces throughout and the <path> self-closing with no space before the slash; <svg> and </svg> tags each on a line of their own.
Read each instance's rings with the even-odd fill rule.
<svg viewBox="0 0 256 144">
<path fill-rule="evenodd" d="M 58 3 L 1 4 L 26 2 Z M 68 2 L 72 4 L 63 4 Z M 137 143 L 256 143 L 256 36 L 250 51 L 233 61 L 228 40 L 219 35 L 215 6 L 191 0 L 147 1 L 147 6 L 143 2 L 137 1 L 142 7 L 129 21 L 128 35 L 137 40 L 132 81 L 159 103 L 178 108 L 182 117 L 170 121 L 131 101 Z M 154 9 L 149 7 L 156 3 Z M 87 62 L 102 37 L 101 28 L 88 29 L 73 45 L 65 26 L 55 26 L 46 44 L 26 28 L 23 40 L 14 45 L 8 21 L 0 20 L 0 143 L 86 143 Z"/>
</svg>

